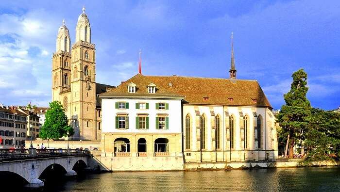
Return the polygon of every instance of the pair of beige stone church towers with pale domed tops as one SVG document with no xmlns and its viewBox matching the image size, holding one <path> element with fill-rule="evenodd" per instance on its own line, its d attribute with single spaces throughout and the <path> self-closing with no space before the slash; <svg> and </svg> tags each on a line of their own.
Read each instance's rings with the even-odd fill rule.
<svg viewBox="0 0 340 192">
<path fill-rule="evenodd" d="M 75 130 L 70 139 L 101 138 L 101 109 L 100 103 L 96 103 L 95 54 L 84 7 L 78 17 L 75 43 L 71 46 L 69 31 L 63 20 L 52 57 L 52 100 L 60 101 L 64 106 L 69 124 Z"/>
</svg>

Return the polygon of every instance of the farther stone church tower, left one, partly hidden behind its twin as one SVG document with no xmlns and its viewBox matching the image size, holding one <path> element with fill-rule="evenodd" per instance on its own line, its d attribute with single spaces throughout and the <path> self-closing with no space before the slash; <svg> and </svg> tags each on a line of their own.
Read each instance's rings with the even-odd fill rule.
<svg viewBox="0 0 340 192">
<path fill-rule="evenodd" d="M 52 57 L 52 100 L 61 101 L 61 94 L 70 91 L 71 74 L 70 37 L 65 20 L 58 30 L 56 46 Z"/>
</svg>

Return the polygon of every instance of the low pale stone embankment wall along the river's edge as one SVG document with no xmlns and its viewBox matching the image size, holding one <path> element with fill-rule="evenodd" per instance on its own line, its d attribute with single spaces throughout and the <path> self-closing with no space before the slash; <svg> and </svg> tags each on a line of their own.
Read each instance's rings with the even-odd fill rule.
<svg viewBox="0 0 340 192">
<path fill-rule="evenodd" d="M 183 162 L 181 158 L 102 158 L 100 152 L 92 151 L 93 158 L 88 160 L 92 170 L 109 172 L 119 171 L 203 171 L 203 170 L 232 170 L 232 169 L 261 169 L 301 167 L 301 159 L 277 161 L 232 161 L 232 162 Z M 339 162 L 322 161 L 310 166 L 337 166 Z"/>
</svg>

